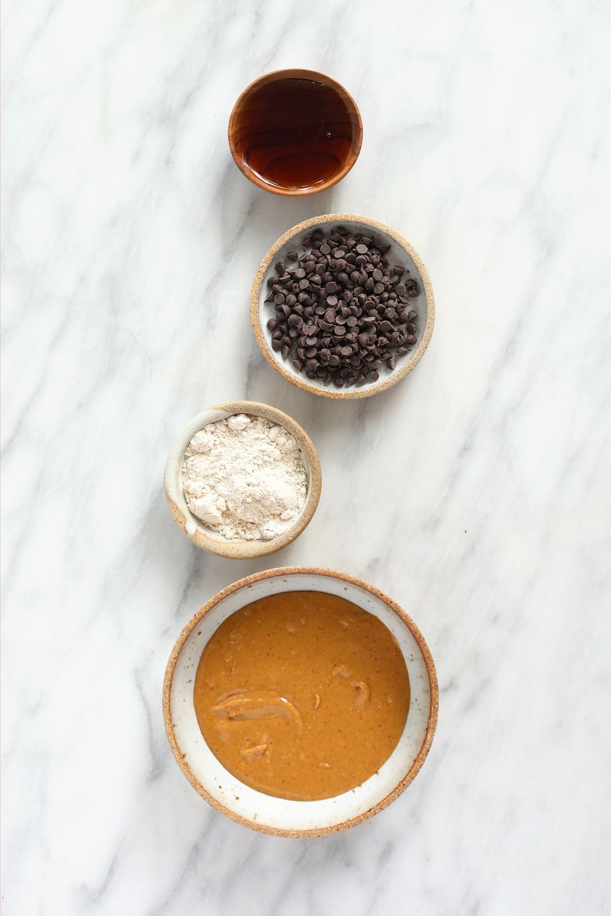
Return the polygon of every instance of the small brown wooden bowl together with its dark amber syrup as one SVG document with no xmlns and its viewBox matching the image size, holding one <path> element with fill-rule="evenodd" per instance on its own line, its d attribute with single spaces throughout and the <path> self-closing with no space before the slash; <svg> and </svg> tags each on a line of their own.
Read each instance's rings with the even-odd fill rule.
<svg viewBox="0 0 611 916">
<path fill-rule="evenodd" d="M 274 194 L 300 196 L 326 191 L 352 169 L 363 122 L 353 97 L 331 77 L 278 70 L 245 88 L 228 137 L 248 180 Z"/>
</svg>

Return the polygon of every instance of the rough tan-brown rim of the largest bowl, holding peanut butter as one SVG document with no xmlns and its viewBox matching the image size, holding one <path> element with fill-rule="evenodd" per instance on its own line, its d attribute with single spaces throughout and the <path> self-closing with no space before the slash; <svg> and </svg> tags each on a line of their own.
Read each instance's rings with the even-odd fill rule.
<svg viewBox="0 0 611 916">
<path fill-rule="evenodd" d="M 183 754 L 180 751 L 176 736 L 174 734 L 174 725 L 172 723 L 172 714 L 171 714 L 171 688 L 172 688 L 172 679 L 174 672 L 176 670 L 176 665 L 180 659 L 180 653 L 184 648 L 188 638 L 191 636 L 193 629 L 200 623 L 202 618 L 210 613 L 213 608 L 223 601 L 228 595 L 235 593 L 252 583 L 258 583 L 266 579 L 273 579 L 275 577 L 290 576 L 290 575 L 311 575 L 324 577 L 327 576 L 331 579 L 335 579 L 339 582 L 350 583 L 355 585 L 357 588 L 360 588 L 370 594 L 375 598 L 381 601 L 383 604 L 393 611 L 398 618 L 403 622 L 403 624 L 409 629 L 409 632 L 417 643 L 418 649 L 421 654 L 422 661 L 424 663 L 427 676 L 429 679 L 430 687 L 430 708 L 429 716 L 426 731 L 422 744 L 420 746 L 420 751 L 417 757 L 414 759 L 411 764 L 408 772 L 403 776 L 401 780 L 398 781 L 395 788 L 388 792 L 387 796 L 383 798 L 380 802 L 374 804 L 366 812 L 362 812 L 353 818 L 348 818 L 342 823 L 335 823 L 332 826 L 324 826 L 312 830 L 295 830 L 295 829 L 285 829 L 273 827 L 265 823 L 257 823 L 254 820 L 245 818 L 237 812 L 232 811 L 230 808 L 226 807 L 222 802 L 219 802 L 218 799 L 214 798 L 213 795 L 207 791 L 202 783 L 196 779 L 191 768 Z M 163 717 L 166 725 L 166 733 L 168 735 L 169 745 L 171 747 L 174 758 L 182 770 L 186 779 L 191 783 L 191 786 L 195 791 L 197 791 L 202 798 L 208 802 L 212 807 L 226 817 L 230 818 L 236 823 L 241 823 L 243 826 L 250 827 L 253 830 L 256 830 L 260 833 L 271 834 L 274 836 L 290 836 L 290 837 L 311 837 L 311 836 L 322 836 L 325 834 L 337 834 L 341 833 L 344 830 L 348 830 L 351 827 L 356 826 L 359 823 L 363 823 L 368 820 L 370 817 L 373 817 L 376 813 L 383 811 L 389 804 L 398 799 L 398 796 L 404 792 L 409 784 L 416 778 L 422 764 L 424 763 L 425 758 L 427 757 L 429 750 L 431 748 L 431 743 L 433 736 L 435 734 L 435 728 L 437 725 L 437 716 L 439 712 L 439 686 L 437 682 L 437 672 L 435 671 L 435 665 L 432 660 L 431 650 L 427 646 L 427 643 L 420 633 L 419 627 L 416 626 L 411 617 L 406 614 L 402 607 L 400 607 L 397 602 L 393 601 L 387 594 L 380 591 L 376 588 L 375 585 L 367 583 L 363 579 L 359 579 L 356 576 L 350 575 L 349 573 L 342 573 L 336 570 L 324 569 L 315 566 L 286 566 L 278 567 L 277 569 L 265 570 L 261 573 L 253 573 L 252 575 L 245 576 L 243 579 L 237 580 L 237 582 L 227 585 L 217 594 L 213 595 L 209 601 L 207 601 L 199 611 L 191 617 L 191 620 L 183 627 L 180 632 L 179 638 L 176 640 L 173 649 L 169 655 L 168 665 L 166 667 L 166 672 L 163 681 L 163 692 L 162 692 L 162 707 L 163 707 Z M 256 793 L 261 795 L 263 799 L 268 798 L 264 793 Z"/>
</svg>

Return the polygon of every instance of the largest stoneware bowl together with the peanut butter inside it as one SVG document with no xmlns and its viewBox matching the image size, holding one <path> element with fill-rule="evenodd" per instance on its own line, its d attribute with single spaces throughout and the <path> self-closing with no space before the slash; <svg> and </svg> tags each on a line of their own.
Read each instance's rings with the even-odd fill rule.
<svg viewBox="0 0 611 916">
<path fill-rule="evenodd" d="M 203 605 L 169 657 L 163 712 L 191 786 L 280 836 L 362 823 L 415 778 L 437 721 L 420 630 L 374 585 L 285 567 Z"/>
</svg>

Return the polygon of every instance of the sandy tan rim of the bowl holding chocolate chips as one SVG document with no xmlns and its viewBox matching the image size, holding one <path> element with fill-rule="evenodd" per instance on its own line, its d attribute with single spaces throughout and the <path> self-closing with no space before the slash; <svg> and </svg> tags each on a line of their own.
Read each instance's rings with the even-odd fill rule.
<svg viewBox="0 0 611 916">
<path fill-rule="evenodd" d="M 325 224 L 343 224 L 343 223 L 356 223 L 366 226 L 369 229 L 374 229 L 377 232 L 384 233 L 390 238 L 392 238 L 399 247 L 409 255 L 411 260 L 414 262 L 422 281 L 422 288 L 426 300 L 426 322 L 424 324 L 424 329 L 420 336 L 420 341 L 418 342 L 415 349 L 409 354 L 409 358 L 406 356 L 405 359 L 397 365 L 397 368 L 393 370 L 392 374 L 386 379 L 376 382 L 366 382 L 362 387 L 352 387 L 352 388 L 336 388 L 333 386 L 322 387 L 318 385 L 312 385 L 311 381 L 307 376 L 297 376 L 289 371 L 283 365 L 281 359 L 276 357 L 274 352 L 270 349 L 267 344 L 267 339 L 263 333 L 263 328 L 261 326 L 259 305 L 260 305 L 260 296 L 261 296 L 261 287 L 263 281 L 266 278 L 267 271 L 271 265 L 274 257 L 278 254 L 278 251 L 287 245 L 293 238 L 298 235 L 306 232 L 308 229 L 314 229 L 318 226 Z M 396 385 L 397 382 L 400 382 L 402 378 L 409 375 L 409 373 L 418 365 L 420 359 L 424 355 L 426 348 L 431 342 L 431 335 L 433 332 L 433 327 L 435 324 L 435 300 L 432 291 L 431 278 L 429 277 L 429 272 L 424 266 L 424 262 L 420 258 L 419 254 L 416 252 L 414 247 L 409 244 L 408 240 L 399 234 L 391 226 L 388 226 L 385 223 L 380 223 L 377 220 L 371 219 L 368 216 L 359 216 L 355 213 L 325 213 L 322 216 L 312 216 L 311 219 L 304 220 L 302 223 L 294 225 L 291 229 L 288 230 L 284 235 L 281 235 L 278 238 L 278 241 L 271 246 L 267 255 L 261 261 L 259 265 L 255 279 L 253 280 L 253 287 L 250 294 L 250 320 L 253 325 L 253 331 L 256 337 L 256 343 L 259 345 L 261 353 L 267 359 L 267 362 L 273 369 L 278 372 L 280 376 L 286 378 L 291 385 L 296 385 L 304 391 L 309 391 L 311 394 L 319 395 L 322 398 L 334 398 L 335 400 L 356 400 L 357 398 L 371 398 L 373 395 L 379 394 L 382 391 L 387 391 L 389 387 Z"/>
</svg>

